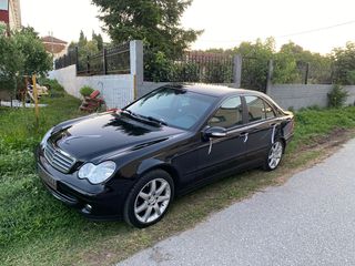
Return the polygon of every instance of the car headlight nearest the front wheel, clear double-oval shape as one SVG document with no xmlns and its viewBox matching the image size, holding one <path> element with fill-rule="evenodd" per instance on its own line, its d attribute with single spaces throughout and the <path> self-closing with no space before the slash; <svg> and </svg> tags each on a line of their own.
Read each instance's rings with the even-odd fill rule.
<svg viewBox="0 0 355 266">
<path fill-rule="evenodd" d="M 112 161 L 103 162 L 99 165 L 85 163 L 79 170 L 79 178 L 88 178 L 92 184 L 100 184 L 109 180 L 115 171 L 115 163 Z"/>
</svg>

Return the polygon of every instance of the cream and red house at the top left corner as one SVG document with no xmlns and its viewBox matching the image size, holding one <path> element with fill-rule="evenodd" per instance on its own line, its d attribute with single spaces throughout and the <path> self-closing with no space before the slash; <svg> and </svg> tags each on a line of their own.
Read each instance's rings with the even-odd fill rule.
<svg viewBox="0 0 355 266">
<path fill-rule="evenodd" d="M 21 29 L 20 0 L 0 0 L 0 24 L 6 24 L 9 30 Z"/>
</svg>

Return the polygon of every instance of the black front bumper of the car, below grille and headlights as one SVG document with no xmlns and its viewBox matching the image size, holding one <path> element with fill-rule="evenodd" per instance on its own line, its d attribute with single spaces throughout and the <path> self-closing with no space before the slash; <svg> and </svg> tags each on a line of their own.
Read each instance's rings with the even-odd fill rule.
<svg viewBox="0 0 355 266">
<path fill-rule="evenodd" d="M 121 219 L 125 198 L 133 181 L 112 178 L 106 184 L 92 185 L 77 177 L 77 171 L 63 174 L 52 167 L 42 151 L 37 150 L 38 174 L 47 190 L 62 203 L 77 208 L 90 219 Z"/>
</svg>

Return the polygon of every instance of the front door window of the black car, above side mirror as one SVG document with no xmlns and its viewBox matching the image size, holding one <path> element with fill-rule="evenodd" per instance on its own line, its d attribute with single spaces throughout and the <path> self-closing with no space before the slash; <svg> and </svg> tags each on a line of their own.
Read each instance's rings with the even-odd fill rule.
<svg viewBox="0 0 355 266">
<path fill-rule="evenodd" d="M 210 126 L 222 126 L 225 129 L 239 124 L 243 124 L 243 108 L 240 96 L 234 96 L 224 101 L 209 121 Z"/>
</svg>

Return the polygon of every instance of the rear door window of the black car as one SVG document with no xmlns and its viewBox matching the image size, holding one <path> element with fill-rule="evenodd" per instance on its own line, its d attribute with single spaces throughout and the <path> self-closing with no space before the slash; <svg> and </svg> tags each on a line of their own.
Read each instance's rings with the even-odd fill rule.
<svg viewBox="0 0 355 266">
<path fill-rule="evenodd" d="M 275 117 L 274 110 L 264 100 L 257 96 L 245 96 L 245 102 L 250 122 Z"/>
</svg>

